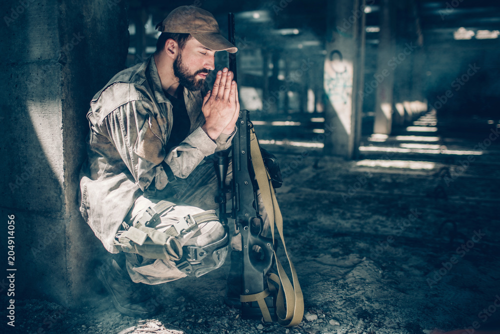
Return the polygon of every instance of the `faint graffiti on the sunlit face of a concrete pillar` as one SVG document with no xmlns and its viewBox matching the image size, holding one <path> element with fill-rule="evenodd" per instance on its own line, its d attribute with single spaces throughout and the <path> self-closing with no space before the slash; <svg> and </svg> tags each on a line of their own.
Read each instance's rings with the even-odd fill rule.
<svg viewBox="0 0 500 334">
<path fill-rule="evenodd" d="M 344 61 L 342 53 L 333 50 L 328 56 L 324 87 L 332 104 L 346 105 L 352 96 L 352 64 Z"/>
</svg>

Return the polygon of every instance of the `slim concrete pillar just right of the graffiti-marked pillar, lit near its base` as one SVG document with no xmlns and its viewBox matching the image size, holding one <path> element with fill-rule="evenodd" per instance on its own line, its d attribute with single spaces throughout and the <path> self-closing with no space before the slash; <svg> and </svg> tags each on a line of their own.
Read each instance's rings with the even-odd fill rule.
<svg viewBox="0 0 500 334">
<path fill-rule="evenodd" d="M 393 57 L 395 57 L 393 35 L 395 11 L 393 5 L 393 0 L 381 0 L 380 43 L 378 44 L 377 71 L 375 74 L 379 80 L 377 80 L 378 86 L 376 88 L 373 132 L 386 135 L 391 132 L 392 105 L 394 103 L 394 75 L 390 74 L 390 65 L 388 65 Z"/>
</svg>

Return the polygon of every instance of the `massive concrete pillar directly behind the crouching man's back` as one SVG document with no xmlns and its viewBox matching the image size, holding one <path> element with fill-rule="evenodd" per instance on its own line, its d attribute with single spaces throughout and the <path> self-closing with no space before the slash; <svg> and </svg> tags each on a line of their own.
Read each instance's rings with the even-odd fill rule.
<svg viewBox="0 0 500 334">
<path fill-rule="evenodd" d="M 0 7 L 0 212 L 15 221 L 9 266 L 16 269 L 15 296 L 76 305 L 93 289 L 89 264 L 102 249 L 77 203 L 85 114 L 92 96 L 124 66 L 125 2 L 9 1 Z"/>
</svg>

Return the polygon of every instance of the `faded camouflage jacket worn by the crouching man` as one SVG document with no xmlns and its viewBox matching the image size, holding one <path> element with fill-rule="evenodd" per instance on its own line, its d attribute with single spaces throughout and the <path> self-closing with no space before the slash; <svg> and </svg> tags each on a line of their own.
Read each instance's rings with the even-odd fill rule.
<svg viewBox="0 0 500 334">
<path fill-rule="evenodd" d="M 231 145 L 234 134 L 213 141 L 200 128 L 203 94 L 184 88 L 191 127 L 169 152 L 164 146 L 172 131 L 172 104 L 161 88 L 154 57 L 116 74 L 90 102 L 80 212 L 109 252 L 117 252 L 114 235 L 134 201 L 150 185 L 161 190 L 168 183 L 162 161 L 176 177 L 185 178 L 203 158 Z"/>
</svg>

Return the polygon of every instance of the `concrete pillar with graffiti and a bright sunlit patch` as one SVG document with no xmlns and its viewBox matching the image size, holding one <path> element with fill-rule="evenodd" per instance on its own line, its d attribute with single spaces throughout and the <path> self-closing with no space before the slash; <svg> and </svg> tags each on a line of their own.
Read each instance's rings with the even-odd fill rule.
<svg viewBox="0 0 500 334">
<path fill-rule="evenodd" d="M 325 106 L 324 152 L 351 159 L 360 107 L 359 77 L 363 73 L 364 1 L 332 0 L 327 6 L 326 59 L 323 87 Z"/>
</svg>

